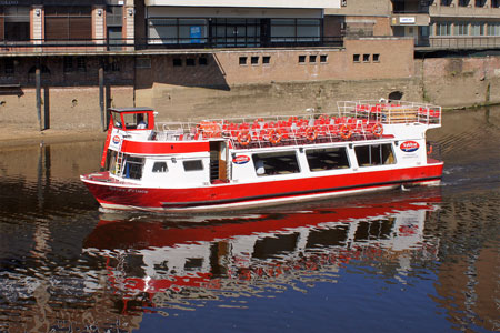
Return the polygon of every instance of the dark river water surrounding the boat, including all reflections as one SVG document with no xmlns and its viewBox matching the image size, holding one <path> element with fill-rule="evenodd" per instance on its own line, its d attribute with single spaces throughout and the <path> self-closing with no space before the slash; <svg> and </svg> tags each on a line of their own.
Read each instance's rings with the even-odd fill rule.
<svg viewBox="0 0 500 333">
<path fill-rule="evenodd" d="M 499 331 L 500 108 L 428 135 L 441 186 L 217 215 L 101 213 L 102 142 L 3 150 L 0 332 Z"/>
</svg>

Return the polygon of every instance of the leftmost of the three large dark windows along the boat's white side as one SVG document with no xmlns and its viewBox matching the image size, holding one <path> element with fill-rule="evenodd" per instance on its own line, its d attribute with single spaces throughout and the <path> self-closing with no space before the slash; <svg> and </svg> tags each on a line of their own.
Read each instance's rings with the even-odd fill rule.
<svg viewBox="0 0 500 333">
<path fill-rule="evenodd" d="M 252 154 L 252 160 L 259 176 L 300 172 L 294 151 Z"/>
</svg>

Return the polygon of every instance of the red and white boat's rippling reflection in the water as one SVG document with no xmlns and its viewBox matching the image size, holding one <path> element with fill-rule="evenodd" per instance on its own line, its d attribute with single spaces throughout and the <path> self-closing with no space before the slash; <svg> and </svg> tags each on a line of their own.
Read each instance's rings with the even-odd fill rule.
<svg viewBox="0 0 500 333">
<path fill-rule="evenodd" d="M 440 196 L 423 193 L 168 222 L 102 215 L 84 251 L 106 262 L 108 282 L 129 313 L 144 306 L 172 309 L 179 301 L 260 293 L 277 283 L 296 287 L 323 274 L 336 280 L 340 268 L 358 261 L 396 261 L 396 274 L 401 275 L 411 260 L 437 255 L 438 241 L 424 238 L 423 228 Z"/>
</svg>

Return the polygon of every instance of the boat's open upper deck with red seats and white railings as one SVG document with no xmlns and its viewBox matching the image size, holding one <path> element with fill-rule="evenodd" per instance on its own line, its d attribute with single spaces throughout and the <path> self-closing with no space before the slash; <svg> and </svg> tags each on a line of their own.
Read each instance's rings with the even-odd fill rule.
<svg viewBox="0 0 500 333">
<path fill-rule="evenodd" d="M 393 138 L 384 125 L 441 125 L 441 108 L 419 103 L 339 102 L 338 113 L 212 119 L 197 123 L 158 123 L 156 141 L 224 139 L 232 147 L 263 148 Z"/>
</svg>

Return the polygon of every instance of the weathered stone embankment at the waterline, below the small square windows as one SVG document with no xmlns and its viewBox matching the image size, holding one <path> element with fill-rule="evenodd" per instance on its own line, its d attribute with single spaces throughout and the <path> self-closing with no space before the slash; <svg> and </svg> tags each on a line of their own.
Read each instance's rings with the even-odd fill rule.
<svg viewBox="0 0 500 333">
<path fill-rule="evenodd" d="M 443 108 L 500 103 L 500 57 L 416 59 L 413 74 L 397 79 L 266 82 L 228 87 L 153 84 L 149 88 L 112 87 L 110 107 L 152 107 L 158 121 L 187 121 L 267 114 L 334 112 L 337 101 L 378 100 L 391 93 L 407 101 Z M 34 90 L 0 97 L 0 147 L 57 143 L 104 138 L 96 88 L 47 91 L 42 118 L 50 102 L 49 129 L 40 131 Z M 42 121 L 43 123 L 43 121 Z"/>
</svg>

